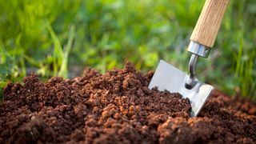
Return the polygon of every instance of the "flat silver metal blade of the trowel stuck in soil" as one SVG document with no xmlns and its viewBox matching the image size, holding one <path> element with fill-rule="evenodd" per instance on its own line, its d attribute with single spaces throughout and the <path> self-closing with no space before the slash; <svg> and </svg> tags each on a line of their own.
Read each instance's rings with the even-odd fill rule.
<svg viewBox="0 0 256 144">
<path fill-rule="evenodd" d="M 161 60 L 150 81 L 149 89 L 156 86 L 160 91 L 168 90 L 170 93 L 181 94 L 182 98 L 189 98 L 192 108 L 190 116 L 194 117 L 198 115 L 214 87 L 198 81 L 191 90 L 188 90 L 185 87 L 186 78 L 188 77 L 182 70 L 178 70 L 176 67 Z"/>
</svg>

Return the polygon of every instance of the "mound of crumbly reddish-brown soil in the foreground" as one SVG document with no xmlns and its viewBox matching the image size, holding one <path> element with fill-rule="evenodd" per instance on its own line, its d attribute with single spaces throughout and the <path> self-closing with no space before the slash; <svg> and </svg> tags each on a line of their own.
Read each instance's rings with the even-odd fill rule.
<svg viewBox="0 0 256 144">
<path fill-rule="evenodd" d="M 0 103 L 0 143 L 255 143 L 256 105 L 215 91 L 197 118 L 179 94 L 148 90 L 153 73 L 35 75 L 10 83 Z"/>
</svg>

